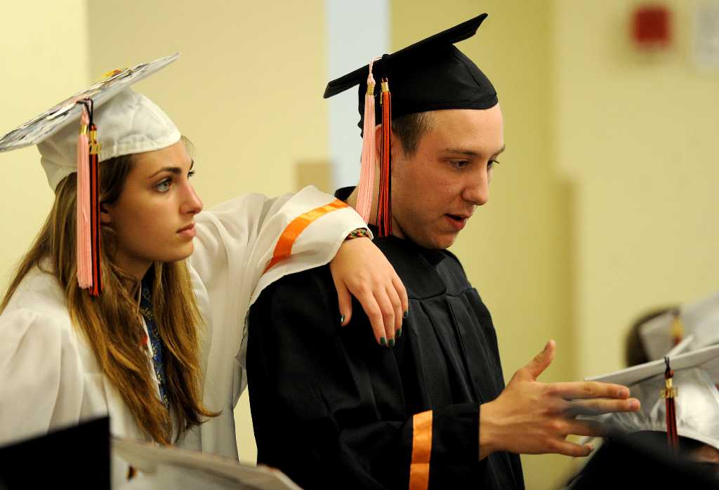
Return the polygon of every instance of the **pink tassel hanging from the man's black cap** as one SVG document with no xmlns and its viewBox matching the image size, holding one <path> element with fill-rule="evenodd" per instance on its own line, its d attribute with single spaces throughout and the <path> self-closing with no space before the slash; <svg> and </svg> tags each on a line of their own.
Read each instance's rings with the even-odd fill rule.
<svg viewBox="0 0 719 490">
<path fill-rule="evenodd" d="M 372 210 L 372 193 L 375 190 L 375 78 L 367 76 L 367 93 L 365 94 L 365 124 L 362 126 L 362 165 L 359 170 L 359 187 L 357 189 L 357 213 L 367 223 Z"/>
</svg>

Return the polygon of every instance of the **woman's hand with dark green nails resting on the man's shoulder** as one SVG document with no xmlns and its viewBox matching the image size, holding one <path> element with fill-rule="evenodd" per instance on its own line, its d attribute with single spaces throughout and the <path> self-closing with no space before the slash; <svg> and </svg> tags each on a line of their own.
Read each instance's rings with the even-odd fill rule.
<svg viewBox="0 0 719 490">
<path fill-rule="evenodd" d="M 352 294 L 367 313 L 377 343 L 394 346 L 408 313 L 407 291 L 375 244 L 367 238 L 345 240 L 329 263 L 339 299 L 340 323 L 352 318 Z"/>
</svg>

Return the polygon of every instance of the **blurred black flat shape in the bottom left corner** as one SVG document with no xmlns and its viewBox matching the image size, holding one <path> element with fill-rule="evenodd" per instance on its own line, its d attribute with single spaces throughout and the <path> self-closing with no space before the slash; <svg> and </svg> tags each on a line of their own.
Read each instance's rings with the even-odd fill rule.
<svg viewBox="0 0 719 490">
<path fill-rule="evenodd" d="M 110 488 L 108 417 L 0 448 L 0 490 L 45 488 Z"/>
</svg>

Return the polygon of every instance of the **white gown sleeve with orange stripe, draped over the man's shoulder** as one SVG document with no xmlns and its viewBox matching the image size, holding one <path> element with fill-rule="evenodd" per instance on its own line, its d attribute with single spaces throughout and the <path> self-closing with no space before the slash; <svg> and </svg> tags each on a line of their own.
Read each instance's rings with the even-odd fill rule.
<svg viewBox="0 0 719 490">
<path fill-rule="evenodd" d="M 237 456 L 232 409 L 246 384 L 249 306 L 285 274 L 329 262 L 347 234 L 364 226 L 352 208 L 312 186 L 280 198 L 244 195 L 197 216 L 195 251 L 188 262 L 201 281 L 195 286 L 198 301 L 211 311 L 204 401 L 222 412 L 202 425 L 203 450 Z M 299 233 L 293 239 L 288 230 Z M 289 256 L 265 271 L 280 243 L 290 244 Z"/>
</svg>

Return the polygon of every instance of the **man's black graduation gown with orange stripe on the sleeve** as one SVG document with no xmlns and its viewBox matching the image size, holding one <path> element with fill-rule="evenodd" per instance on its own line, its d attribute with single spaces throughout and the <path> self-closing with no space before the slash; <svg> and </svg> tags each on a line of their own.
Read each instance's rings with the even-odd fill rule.
<svg viewBox="0 0 719 490">
<path fill-rule="evenodd" d="M 504 381 L 490 313 L 462 265 L 394 237 L 375 244 L 410 300 L 394 348 L 377 345 L 357 302 L 339 325 L 329 266 L 283 277 L 250 310 L 257 462 L 311 489 L 405 489 L 411 473 L 413 484 L 426 475 L 426 447 L 430 489 L 523 489 L 517 455 L 477 461 L 480 404 Z M 426 411 L 429 429 L 426 414 L 413 417 Z"/>
</svg>

